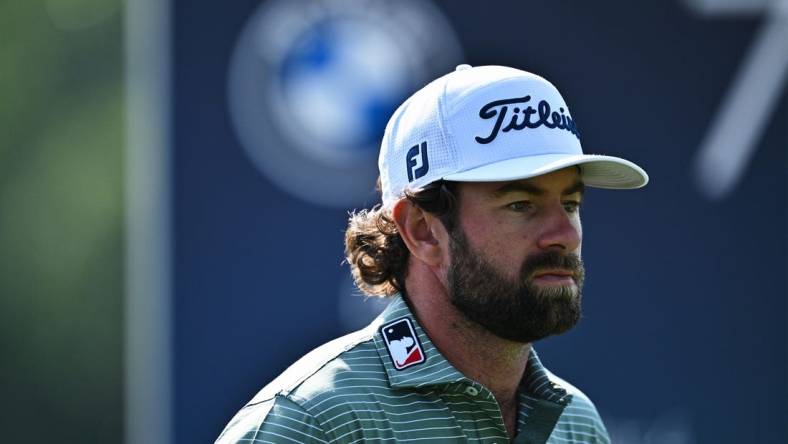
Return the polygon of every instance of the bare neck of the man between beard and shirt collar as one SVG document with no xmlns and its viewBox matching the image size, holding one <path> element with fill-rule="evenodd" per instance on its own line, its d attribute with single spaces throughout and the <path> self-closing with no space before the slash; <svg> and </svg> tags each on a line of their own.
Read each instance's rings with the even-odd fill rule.
<svg viewBox="0 0 788 444">
<path fill-rule="evenodd" d="M 502 339 L 469 320 L 449 302 L 445 286 L 429 270 L 409 271 L 408 300 L 432 343 L 468 378 L 495 395 L 510 436 L 517 412 L 517 388 L 530 344 Z"/>
</svg>

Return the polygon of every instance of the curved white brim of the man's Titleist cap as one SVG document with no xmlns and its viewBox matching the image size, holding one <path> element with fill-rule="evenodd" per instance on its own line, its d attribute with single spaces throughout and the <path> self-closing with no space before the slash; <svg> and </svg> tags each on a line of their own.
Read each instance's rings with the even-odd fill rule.
<svg viewBox="0 0 788 444">
<path fill-rule="evenodd" d="M 520 157 L 449 174 L 443 179 L 456 182 L 519 180 L 575 165 L 580 167 L 583 183 L 590 187 L 632 189 L 648 183 L 648 174 L 643 168 L 625 159 L 597 154 L 542 154 Z"/>
</svg>

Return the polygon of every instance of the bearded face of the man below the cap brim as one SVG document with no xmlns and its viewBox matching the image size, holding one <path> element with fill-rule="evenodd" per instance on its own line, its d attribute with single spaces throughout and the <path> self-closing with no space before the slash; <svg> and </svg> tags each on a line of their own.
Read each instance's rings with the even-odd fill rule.
<svg viewBox="0 0 788 444">
<path fill-rule="evenodd" d="M 582 194 L 574 167 L 520 181 L 461 184 L 447 272 L 452 304 L 512 341 L 572 328 L 584 278 Z"/>
</svg>

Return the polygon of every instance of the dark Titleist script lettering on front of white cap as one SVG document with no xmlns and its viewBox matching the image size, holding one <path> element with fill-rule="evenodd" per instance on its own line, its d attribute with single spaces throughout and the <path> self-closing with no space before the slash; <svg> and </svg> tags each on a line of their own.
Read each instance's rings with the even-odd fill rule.
<svg viewBox="0 0 788 444">
<path fill-rule="evenodd" d="M 564 108 L 561 107 L 558 108 L 558 111 L 553 111 L 550 107 L 550 104 L 547 103 L 546 100 L 541 100 L 536 106 L 536 109 L 534 109 L 531 105 L 528 105 L 524 109 L 520 109 L 520 107 L 514 107 L 509 118 L 509 123 L 501 128 L 504 120 L 506 120 L 506 116 L 509 114 L 508 105 L 528 103 L 530 101 L 531 96 L 524 96 L 515 97 L 512 99 L 495 100 L 484 105 L 479 110 L 479 117 L 485 120 L 492 119 L 496 116 L 498 116 L 498 118 L 495 119 L 495 124 L 493 125 L 490 134 L 488 134 L 486 137 L 476 136 L 476 141 L 481 144 L 487 144 L 495 140 L 495 138 L 498 137 L 498 134 L 501 132 L 508 133 L 511 130 L 520 131 L 526 128 L 536 129 L 540 126 L 545 126 L 550 129 L 569 131 L 570 133 L 574 134 L 578 140 L 580 140 L 580 131 L 577 129 L 575 121 L 568 115 L 564 114 Z M 536 119 L 532 120 L 531 116 L 534 114 L 536 114 Z"/>
</svg>

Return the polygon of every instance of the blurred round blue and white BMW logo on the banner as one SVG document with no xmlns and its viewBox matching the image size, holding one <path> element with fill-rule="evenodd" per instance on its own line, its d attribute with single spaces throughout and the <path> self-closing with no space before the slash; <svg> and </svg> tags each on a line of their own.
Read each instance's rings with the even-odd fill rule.
<svg viewBox="0 0 788 444">
<path fill-rule="evenodd" d="M 305 201 L 371 197 L 395 108 L 461 62 L 456 34 L 428 1 L 276 0 L 238 39 L 228 97 L 244 150 Z"/>
</svg>

